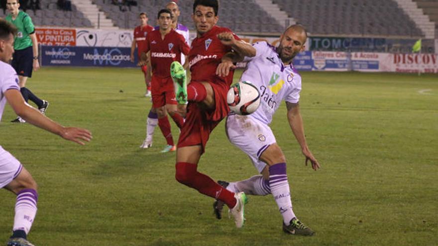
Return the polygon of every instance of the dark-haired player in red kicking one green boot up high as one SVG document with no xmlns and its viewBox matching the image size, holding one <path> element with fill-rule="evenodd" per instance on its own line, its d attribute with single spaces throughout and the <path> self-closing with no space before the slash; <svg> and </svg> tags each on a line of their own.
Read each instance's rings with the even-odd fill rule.
<svg viewBox="0 0 438 246">
<path fill-rule="evenodd" d="M 217 71 L 230 68 L 229 62 L 221 63 L 222 57 L 231 50 L 242 56 L 255 56 L 255 49 L 250 44 L 240 41 L 228 28 L 216 26 L 219 20 L 218 5 L 218 0 L 195 0 L 193 4 L 192 18 L 197 37 L 192 42 L 188 57 L 191 83 L 186 84 L 181 64 L 174 62 L 171 65 L 178 109 L 183 109 L 184 113 L 189 101 L 186 122 L 178 140 L 175 177 L 180 183 L 223 201 L 230 208 L 236 226 L 240 228 L 244 222 L 245 194 L 230 192 L 197 170 L 210 133 L 229 111 L 226 93 L 233 72 L 227 72 L 226 76 L 217 74 Z"/>
</svg>

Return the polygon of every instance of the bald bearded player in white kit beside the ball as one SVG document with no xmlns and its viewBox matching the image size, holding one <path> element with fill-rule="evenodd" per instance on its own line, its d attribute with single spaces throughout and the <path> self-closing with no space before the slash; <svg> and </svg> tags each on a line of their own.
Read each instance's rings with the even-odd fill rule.
<svg viewBox="0 0 438 246">
<path fill-rule="evenodd" d="M 272 194 L 283 217 L 283 231 L 294 235 L 312 236 L 314 232 L 297 219 L 292 209 L 286 158 L 269 127 L 273 114 L 285 100 L 289 125 L 306 157 L 306 165 L 310 161 L 313 169 L 320 168 L 306 143 L 298 103 L 301 76 L 292 64 L 292 59 L 304 50 L 306 39 L 304 27 L 292 25 L 281 35 L 279 47 L 257 42 L 253 44 L 256 56 L 245 57 L 244 61 L 248 63 L 240 81 L 252 82 L 259 89 L 260 106 L 247 116 L 230 113 L 225 128 L 229 141 L 249 156 L 261 175 L 237 182 L 219 181 L 219 184 L 232 192 L 250 195 Z M 241 58 L 236 54 L 227 54 L 222 58 L 217 73 L 226 75 L 230 68 L 234 68 L 233 63 L 238 61 L 241 61 Z M 220 201 L 214 204 L 218 219 L 221 217 L 222 206 Z"/>
</svg>

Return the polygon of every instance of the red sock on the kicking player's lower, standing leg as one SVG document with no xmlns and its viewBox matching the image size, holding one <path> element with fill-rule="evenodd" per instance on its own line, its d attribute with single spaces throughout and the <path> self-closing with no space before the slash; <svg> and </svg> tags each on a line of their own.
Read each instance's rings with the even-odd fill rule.
<svg viewBox="0 0 438 246">
<path fill-rule="evenodd" d="M 236 205 L 234 193 L 223 188 L 209 176 L 198 172 L 197 165 L 192 163 L 176 163 L 175 178 L 178 182 L 198 190 L 200 193 L 223 201 L 229 208 Z"/>
</svg>

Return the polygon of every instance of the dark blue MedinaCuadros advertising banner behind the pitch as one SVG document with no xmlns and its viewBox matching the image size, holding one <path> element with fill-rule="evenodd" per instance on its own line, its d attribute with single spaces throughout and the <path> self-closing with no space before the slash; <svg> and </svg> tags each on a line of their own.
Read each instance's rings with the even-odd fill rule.
<svg viewBox="0 0 438 246">
<path fill-rule="evenodd" d="M 130 48 L 42 46 L 42 66 L 136 67 L 130 61 Z"/>
</svg>

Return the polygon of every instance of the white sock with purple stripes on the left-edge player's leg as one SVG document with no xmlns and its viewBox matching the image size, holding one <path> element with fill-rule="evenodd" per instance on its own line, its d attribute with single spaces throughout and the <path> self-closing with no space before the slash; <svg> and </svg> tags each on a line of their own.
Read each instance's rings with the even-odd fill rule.
<svg viewBox="0 0 438 246">
<path fill-rule="evenodd" d="M 26 235 L 36 215 L 38 193 L 34 189 L 23 189 L 17 194 L 13 231 L 23 230 Z"/>
</svg>

